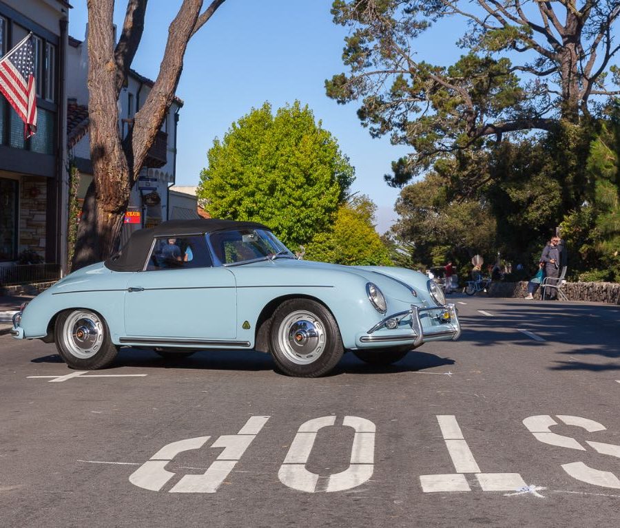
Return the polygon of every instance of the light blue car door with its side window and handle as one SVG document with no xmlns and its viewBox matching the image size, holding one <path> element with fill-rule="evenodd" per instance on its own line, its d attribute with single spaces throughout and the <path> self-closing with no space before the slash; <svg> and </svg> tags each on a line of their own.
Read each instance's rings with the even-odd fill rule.
<svg viewBox="0 0 620 528">
<path fill-rule="evenodd" d="M 235 277 L 212 265 L 204 235 L 156 240 L 145 271 L 127 284 L 125 333 L 128 339 L 165 338 L 171 346 L 185 339 L 209 346 L 234 340 L 236 312 Z"/>
</svg>

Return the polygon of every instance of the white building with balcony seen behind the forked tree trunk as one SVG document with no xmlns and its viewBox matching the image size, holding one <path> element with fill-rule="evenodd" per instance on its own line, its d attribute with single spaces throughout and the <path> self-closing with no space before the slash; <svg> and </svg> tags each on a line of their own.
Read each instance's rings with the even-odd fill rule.
<svg viewBox="0 0 620 528">
<path fill-rule="evenodd" d="M 90 162 L 90 136 L 88 134 L 88 50 L 87 32 L 84 41 L 69 37 L 68 68 L 68 149 L 72 164 L 79 170 L 80 184 L 78 199 L 83 200 L 92 182 L 92 163 Z M 133 118 L 141 109 L 154 82 L 149 78 L 130 71 L 127 83 L 118 98 L 119 134 L 125 137 L 133 126 Z M 132 231 L 155 226 L 169 218 L 170 205 L 168 188 L 176 179 L 176 129 L 178 112 L 183 101 L 174 98 L 167 116 L 149 149 L 145 166 L 138 183 L 132 189 L 130 204 L 125 216 L 121 235 L 123 244 Z"/>
</svg>

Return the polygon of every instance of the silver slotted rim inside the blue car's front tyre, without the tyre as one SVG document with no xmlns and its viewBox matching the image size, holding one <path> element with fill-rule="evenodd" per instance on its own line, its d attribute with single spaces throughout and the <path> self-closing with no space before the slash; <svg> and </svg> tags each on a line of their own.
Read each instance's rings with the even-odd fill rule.
<svg viewBox="0 0 620 528">
<path fill-rule="evenodd" d="M 278 345 L 296 365 L 314 363 L 324 352 L 326 332 L 323 322 L 311 312 L 289 313 L 278 328 Z"/>
</svg>

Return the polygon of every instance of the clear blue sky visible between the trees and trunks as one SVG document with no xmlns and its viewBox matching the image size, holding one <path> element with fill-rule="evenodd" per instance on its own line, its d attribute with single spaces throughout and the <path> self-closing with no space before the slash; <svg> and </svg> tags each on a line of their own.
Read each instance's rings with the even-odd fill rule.
<svg viewBox="0 0 620 528">
<path fill-rule="evenodd" d="M 69 32 L 80 40 L 87 22 L 85 4 L 76 0 L 70 10 Z M 149 1 L 132 64 L 138 73 L 156 78 L 168 25 L 179 5 L 180 0 Z M 116 1 L 119 28 L 126 6 L 126 1 Z M 389 187 L 383 175 L 407 149 L 390 145 L 387 138 L 371 138 L 355 113 L 358 105 L 338 105 L 325 95 L 324 80 L 345 71 L 341 54 L 347 30 L 331 21 L 330 7 L 331 0 L 227 0 L 194 36 L 176 92 L 185 102 L 178 128 L 177 184 L 198 184 L 214 138 L 223 138 L 252 107 L 269 101 L 275 110 L 298 99 L 349 156 L 355 167 L 352 191 L 369 195 L 377 204 L 378 231 L 389 228 L 399 190 Z M 433 61 L 441 62 L 442 55 L 453 59 L 457 38 L 454 34 L 448 42 L 427 41 Z M 424 48 L 424 41 L 420 45 Z"/>
</svg>

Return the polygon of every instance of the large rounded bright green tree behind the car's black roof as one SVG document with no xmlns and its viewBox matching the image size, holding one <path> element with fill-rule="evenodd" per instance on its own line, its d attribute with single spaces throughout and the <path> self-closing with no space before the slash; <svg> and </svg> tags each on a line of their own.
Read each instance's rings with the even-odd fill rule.
<svg viewBox="0 0 620 528">
<path fill-rule="evenodd" d="M 197 196 L 215 218 L 252 220 L 273 229 L 291 249 L 323 231 L 354 179 L 335 138 L 298 101 L 265 103 L 216 138 Z"/>
</svg>

